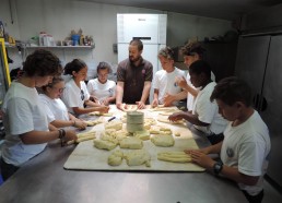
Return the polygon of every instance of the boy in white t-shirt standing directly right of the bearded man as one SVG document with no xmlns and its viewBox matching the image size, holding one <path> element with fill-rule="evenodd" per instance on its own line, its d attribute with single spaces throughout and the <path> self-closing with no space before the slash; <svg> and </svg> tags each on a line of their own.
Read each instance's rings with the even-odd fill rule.
<svg viewBox="0 0 282 203">
<path fill-rule="evenodd" d="M 173 55 L 174 52 L 169 47 L 158 51 L 157 57 L 163 70 L 157 71 L 153 80 L 154 98 L 151 103 L 153 107 L 177 105 L 177 101 L 169 98 L 181 92 L 181 87 L 176 84 L 175 80 L 185 76 L 185 72 L 174 67 Z"/>
</svg>

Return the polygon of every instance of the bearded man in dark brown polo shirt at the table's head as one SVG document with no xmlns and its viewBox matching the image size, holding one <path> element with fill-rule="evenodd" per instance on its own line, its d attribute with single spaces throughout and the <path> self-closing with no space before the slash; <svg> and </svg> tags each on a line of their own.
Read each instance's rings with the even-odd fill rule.
<svg viewBox="0 0 282 203">
<path fill-rule="evenodd" d="M 149 94 L 153 80 L 153 65 L 142 58 L 143 44 L 133 39 L 129 44 L 129 58 L 121 61 L 117 69 L 116 105 L 122 103 L 138 105 L 138 109 L 149 105 Z"/>
</svg>

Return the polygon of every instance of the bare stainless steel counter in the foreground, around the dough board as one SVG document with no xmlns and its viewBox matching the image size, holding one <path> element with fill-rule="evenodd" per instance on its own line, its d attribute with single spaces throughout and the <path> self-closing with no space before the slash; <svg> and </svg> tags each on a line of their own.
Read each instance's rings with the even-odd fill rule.
<svg viewBox="0 0 282 203">
<path fill-rule="evenodd" d="M 205 139 L 193 135 L 199 147 L 207 145 Z M 50 143 L 0 187 L 0 203 L 247 202 L 234 182 L 209 172 L 64 170 L 74 147 Z"/>
</svg>

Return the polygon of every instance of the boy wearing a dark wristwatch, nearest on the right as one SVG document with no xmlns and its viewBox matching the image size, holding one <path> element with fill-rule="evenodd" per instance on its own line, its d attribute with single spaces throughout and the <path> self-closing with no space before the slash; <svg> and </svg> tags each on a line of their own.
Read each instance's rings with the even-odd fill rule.
<svg viewBox="0 0 282 203">
<path fill-rule="evenodd" d="M 222 80 L 211 95 L 211 100 L 214 99 L 220 114 L 231 121 L 223 142 L 185 152 L 198 165 L 236 181 L 250 203 L 260 203 L 270 152 L 268 127 L 250 106 L 251 94 L 246 82 L 236 77 Z M 221 162 L 207 156 L 215 153 L 220 153 Z"/>
</svg>

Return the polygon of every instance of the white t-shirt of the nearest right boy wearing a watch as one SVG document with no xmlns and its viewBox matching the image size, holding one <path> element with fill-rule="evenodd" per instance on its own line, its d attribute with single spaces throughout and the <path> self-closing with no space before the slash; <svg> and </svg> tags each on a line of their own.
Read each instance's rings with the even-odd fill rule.
<svg viewBox="0 0 282 203">
<path fill-rule="evenodd" d="M 268 127 L 257 111 L 237 127 L 232 127 L 230 122 L 224 131 L 221 148 L 223 164 L 236 167 L 239 172 L 247 176 L 260 176 L 256 186 L 238 183 L 239 188 L 250 195 L 256 195 L 262 190 L 270 147 Z"/>
</svg>

